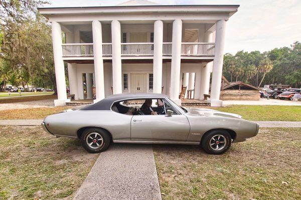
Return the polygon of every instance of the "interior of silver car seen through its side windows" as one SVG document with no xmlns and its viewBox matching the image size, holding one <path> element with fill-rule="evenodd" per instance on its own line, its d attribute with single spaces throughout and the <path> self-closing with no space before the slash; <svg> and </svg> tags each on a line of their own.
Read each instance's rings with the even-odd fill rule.
<svg viewBox="0 0 301 200">
<path fill-rule="evenodd" d="M 152 101 L 152 115 L 177 114 L 177 111 L 164 99 L 130 99 L 115 102 L 111 109 L 114 112 L 128 115 L 149 115 L 143 112 L 141 106 L 146 101 Z"/>
</svg>

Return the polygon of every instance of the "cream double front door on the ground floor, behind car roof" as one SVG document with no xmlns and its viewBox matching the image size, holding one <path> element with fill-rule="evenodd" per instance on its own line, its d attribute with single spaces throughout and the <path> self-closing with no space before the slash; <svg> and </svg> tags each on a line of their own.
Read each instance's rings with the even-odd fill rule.
<svg viewBox="0 0 301 200">
<path fill-rule="evenodd" d="M 147 91 L 147 74 L 131 73 L 130 74 L 130 92 L 146 92 Z"/>
</svg>

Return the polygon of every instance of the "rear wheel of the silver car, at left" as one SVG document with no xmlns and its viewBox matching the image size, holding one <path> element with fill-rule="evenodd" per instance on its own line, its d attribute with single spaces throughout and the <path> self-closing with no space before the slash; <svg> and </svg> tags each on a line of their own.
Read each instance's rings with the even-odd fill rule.
<svg viewBox="0 0 301 200">
<path fill-rule="evenodd" d="M 111 142 L 109 133 L 101 128 L 85 129 L 81 134 L 80 140 L 82 146 L 90 153 L 100 153 L 105 151 Z"/>
</svg>

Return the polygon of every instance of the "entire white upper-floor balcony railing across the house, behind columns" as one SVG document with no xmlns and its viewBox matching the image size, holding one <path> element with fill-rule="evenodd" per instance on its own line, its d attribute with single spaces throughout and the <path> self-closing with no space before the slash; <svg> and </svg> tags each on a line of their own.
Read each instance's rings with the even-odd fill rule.
<svg viewBox="0 0 301 200">
<path fill-rule="evenodd" d="M 154 43 L 121 43 L 122 57 L 153 56 Z M 182 43 L 181 56 L 214 56 L 215 43 Z M 63 57 L 93 57 L 93 43 L 63 44 Z M 102 44 L 103 57 L 112 56 L 112 44 Z M 172 43 L 163 43 L 163 56 L 172 56 Z"/>
</svg>

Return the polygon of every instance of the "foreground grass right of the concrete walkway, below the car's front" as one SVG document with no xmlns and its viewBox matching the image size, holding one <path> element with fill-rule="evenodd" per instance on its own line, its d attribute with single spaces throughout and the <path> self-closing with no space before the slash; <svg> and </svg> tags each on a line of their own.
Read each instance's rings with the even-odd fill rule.
<svg viewBox="0 0 301 200">
<path fill-rule="evenodd" d="M 223 155 L 198 146 L 154 145 L 162 197 L 301 199 L 301 128 L 262 128 Z"/>
</svg>

